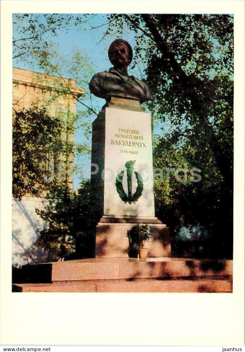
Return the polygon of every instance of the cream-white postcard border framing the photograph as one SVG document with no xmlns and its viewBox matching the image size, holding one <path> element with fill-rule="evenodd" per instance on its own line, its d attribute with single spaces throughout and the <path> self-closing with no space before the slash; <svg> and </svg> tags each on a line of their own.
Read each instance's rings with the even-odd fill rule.
<svg viewBox="0 0 245 352">
<path fill-rule="evenodd" d="M 244 1 L 12 0 L 2 1 L 1 10 L 1 343 L 243 345 Z M 235 235 L 232 294 L 11 293 L 13 12 L 234 13 Z"/>
</svg>

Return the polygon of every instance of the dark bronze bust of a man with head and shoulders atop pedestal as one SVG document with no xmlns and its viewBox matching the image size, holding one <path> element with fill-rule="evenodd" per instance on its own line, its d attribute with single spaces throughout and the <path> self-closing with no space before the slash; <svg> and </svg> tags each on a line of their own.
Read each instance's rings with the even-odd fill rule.
<svg viewBox="0 0 245 352">
<path fill-rule="evenodd" d="M 128 65 L 133 58 L 130 44 L 126 40 L 116 39 L 111 43 L 108 55 L 113 67 L 92 77 L 89 83 L 90 92 L 107 102 L 112 96 L 134 99 L 141 103 L 152 100 L 146 83 L 128 75 Z"/>
</svg>

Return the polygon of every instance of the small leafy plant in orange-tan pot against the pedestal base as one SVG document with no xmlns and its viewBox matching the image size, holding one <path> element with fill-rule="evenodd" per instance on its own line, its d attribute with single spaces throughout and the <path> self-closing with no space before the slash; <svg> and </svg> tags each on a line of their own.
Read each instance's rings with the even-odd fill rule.
<svg viewBox="0 0 245 352">
<path fill-rule="evenodd" d="M 149 226 L 146 224 L 134 225 L 128 230 L 127 237 L 129 240 L 129 258 L 137 258 L 138 254 L 141 259 L 146 258 L 148 248 L 145 248 L 144 244 L 150 239 Z"/>
</svg>

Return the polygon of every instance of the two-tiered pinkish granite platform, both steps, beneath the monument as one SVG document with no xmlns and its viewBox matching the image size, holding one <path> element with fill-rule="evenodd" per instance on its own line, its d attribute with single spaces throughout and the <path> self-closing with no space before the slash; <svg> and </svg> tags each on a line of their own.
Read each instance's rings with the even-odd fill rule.
<svg viewBox="0 0 245 352">
<path fill-rule="evenodd" d="M 42 265 L 48 278 L 35 283 L 30 268 Z M 95 258 L 28 268 L 13 282 L 22 292 L 232 292 L 232 260 Z"/>
</svg>

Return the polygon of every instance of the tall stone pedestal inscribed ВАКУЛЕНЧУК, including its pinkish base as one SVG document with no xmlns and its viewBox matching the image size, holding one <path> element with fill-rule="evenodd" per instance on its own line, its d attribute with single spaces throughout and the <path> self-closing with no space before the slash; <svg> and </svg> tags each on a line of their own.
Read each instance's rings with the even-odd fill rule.
<svg viewBox="0 0 245 352">
<path fill-rule="evenodd" d="M 148 224 L 149 256 L 170 256 L 166 225 L 155 218 L 151 117 L 138 101 L 112 98 L 93 122 L 91 200 L 96 256 L 128 256 L 127 230 Z"/>
</svg>

